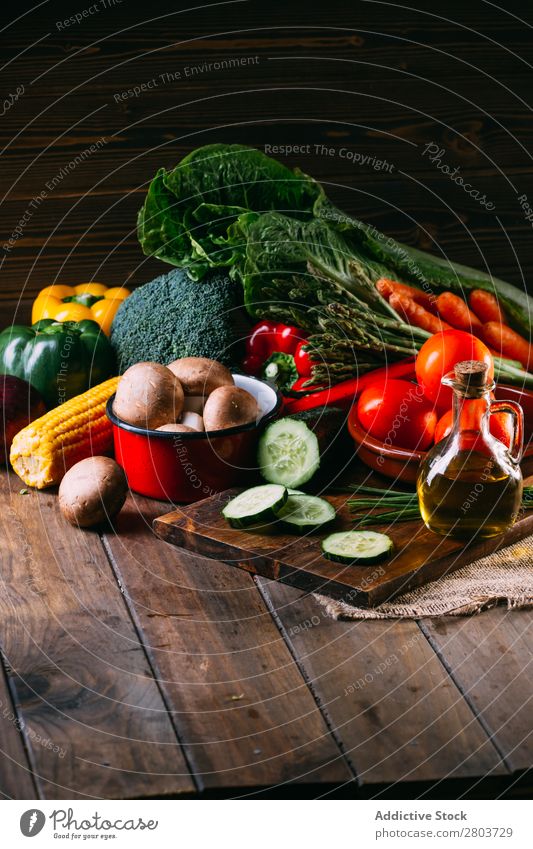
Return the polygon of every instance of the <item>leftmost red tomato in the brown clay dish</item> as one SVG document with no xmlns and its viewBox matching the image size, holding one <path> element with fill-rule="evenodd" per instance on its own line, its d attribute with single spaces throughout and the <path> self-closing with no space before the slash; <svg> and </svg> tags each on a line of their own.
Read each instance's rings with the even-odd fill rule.
<svg viewBox="0 0 533 849">
<path fill-rule="evenodd" d="M 387 445 L 425 451 L 433 442 L 437 413 L 422 389 L 407 380 L 384 380 L 365 389 L 357 403 L 363 428 Z"/>
</svg>

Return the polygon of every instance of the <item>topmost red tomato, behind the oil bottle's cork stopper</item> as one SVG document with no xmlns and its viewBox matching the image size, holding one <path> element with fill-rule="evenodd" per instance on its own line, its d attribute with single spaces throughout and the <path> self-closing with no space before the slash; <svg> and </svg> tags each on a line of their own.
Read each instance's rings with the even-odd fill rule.
<svg viewBox="0 0 533 849">
<path fill-rule="evenodd" d="M 492 354 L 481 339 L 464 330 L 444 330 L 424 342 L 416 358 L 416 379 L 426 397 L 444 412 L 452 406 L 452 389 L 443 386 L 442 378 L 463 360 L 481 360 L 489 367 L 488 377 L 494 377 Z"/>
</svg>

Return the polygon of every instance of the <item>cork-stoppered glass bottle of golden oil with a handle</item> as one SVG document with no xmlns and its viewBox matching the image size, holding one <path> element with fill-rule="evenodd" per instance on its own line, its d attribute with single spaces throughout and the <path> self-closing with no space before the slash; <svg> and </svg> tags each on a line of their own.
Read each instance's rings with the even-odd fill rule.
<svg viewBox="0 0 533 849">
<path fill-rule="evenodd" d="M 522 408 L 491 400 L 494 383 L 477 360 L 457 363 L 442 382 L 453 389 L 453 428 L 420 467 L 422 518 L 430 530 L 455 539 L 497 536 L 514 524 L 522 503 Z M 510 449 L 490 432 L 495 412 L 513 417 Z"/>
</svg>

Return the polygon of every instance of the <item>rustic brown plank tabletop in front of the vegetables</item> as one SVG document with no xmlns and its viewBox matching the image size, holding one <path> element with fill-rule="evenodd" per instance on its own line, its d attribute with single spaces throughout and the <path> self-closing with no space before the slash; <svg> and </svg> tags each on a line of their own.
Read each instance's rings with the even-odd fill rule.
<svg viewBox="0 0 533 849">
<path fill-rule="evenodd" d="M 532 612 L 334 622 L 156 539 L 168 505 L 99 535 L 0 488 L 4 796 L 524 792 Z"/>
</svg>

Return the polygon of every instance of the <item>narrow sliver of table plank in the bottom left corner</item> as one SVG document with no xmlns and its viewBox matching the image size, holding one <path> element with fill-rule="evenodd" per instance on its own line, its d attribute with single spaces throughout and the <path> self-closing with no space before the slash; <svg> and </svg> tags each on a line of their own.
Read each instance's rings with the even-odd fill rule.
<svg viewBox="0 0 533 849">
<path fill-rule="evenodd" d="M 24 748 L 22 729 L 0 664 L 0 797 L 4 799 L 37 799 L 40 795 Z"/>
</svg>

